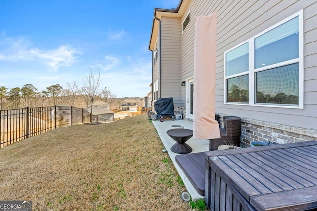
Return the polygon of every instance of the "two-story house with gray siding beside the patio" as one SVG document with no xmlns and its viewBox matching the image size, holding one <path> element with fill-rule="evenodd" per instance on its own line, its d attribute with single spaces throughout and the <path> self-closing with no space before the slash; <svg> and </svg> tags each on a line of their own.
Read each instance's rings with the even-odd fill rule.
<svg viewBox="0 0 317 211">
<path fill-rule="evenodd" d="M 195 17 L 217 12 L 216 113 L 242 118 L 244 145 L 317 140 L 316 8 L 316 0 L 180 0 L 154 9 L 153 102 L 173 97 L 193 120 Z"/>
</svg>

